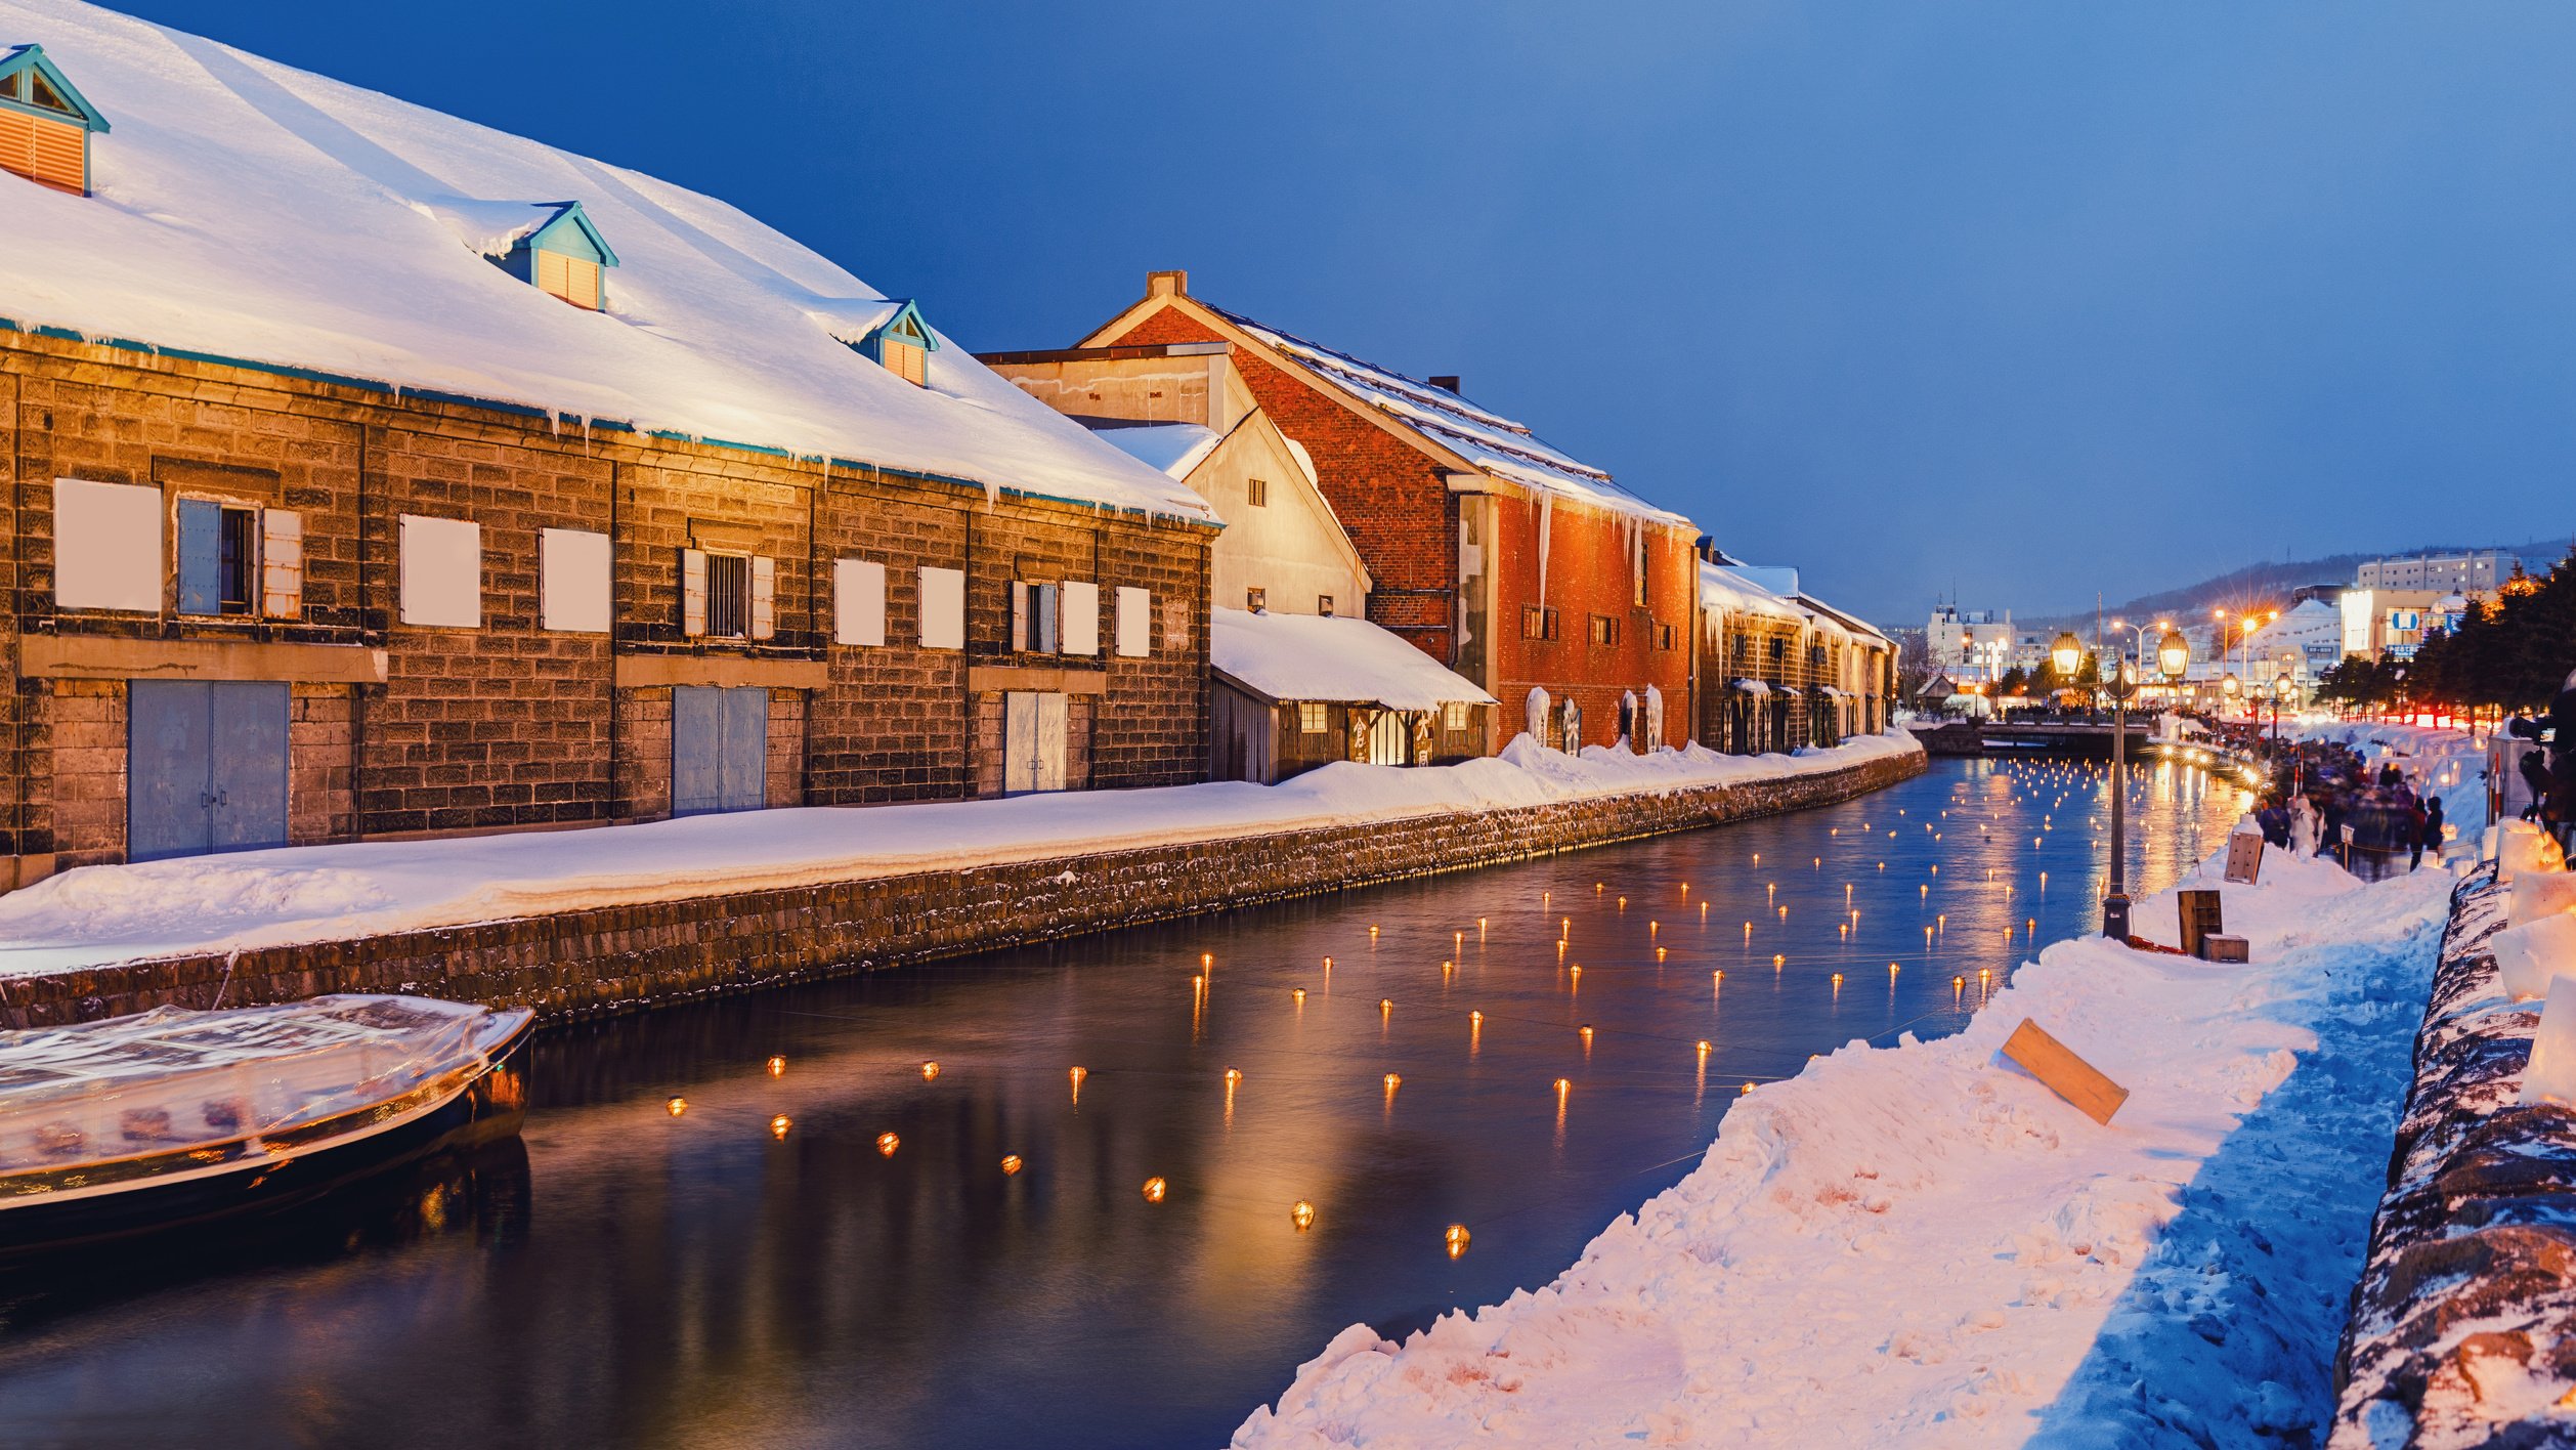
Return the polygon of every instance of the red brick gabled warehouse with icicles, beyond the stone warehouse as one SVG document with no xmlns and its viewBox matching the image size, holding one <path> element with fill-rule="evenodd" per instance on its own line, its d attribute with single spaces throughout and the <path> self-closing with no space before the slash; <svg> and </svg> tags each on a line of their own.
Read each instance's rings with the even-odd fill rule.
<svg viewBox="0 0 2576 1450">
<path fill-rule="evenodd" d="M 1368 564 L 1368 618 L 1502 701 L 1510 726 L 1489 749 L 1525 719 L 1548 744 L 1569 726 L 1584 744 L 1690 734 L 1690 520 L 1466 402 L 1458 379 L 1406 379 L 1262 327 L 1193 296 L 1188 273 L 1151 273 L 1082 348 L 1170 343 L 1231 343 Z"/>
</svg>

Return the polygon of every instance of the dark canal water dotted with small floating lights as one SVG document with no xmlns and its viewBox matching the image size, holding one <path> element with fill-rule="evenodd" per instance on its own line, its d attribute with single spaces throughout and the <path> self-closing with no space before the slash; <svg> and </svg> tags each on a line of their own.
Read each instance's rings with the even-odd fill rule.
<svg viewBox="0 0 2576 1450">
<path fill-rule="evenodd" d="M 549 1033 L 515 1141 L 0 1280 L 0 1440 L 1221 1445 L 1342 1326 L 1551 1280 L 1744 1084 L 1950 1033 L 2092 930 L 2107 775 L 1935 762 L 1795 816 Z M 2187 765 L 2128 791 L 2141 896 L 2244 809 Z"/>
</svg>

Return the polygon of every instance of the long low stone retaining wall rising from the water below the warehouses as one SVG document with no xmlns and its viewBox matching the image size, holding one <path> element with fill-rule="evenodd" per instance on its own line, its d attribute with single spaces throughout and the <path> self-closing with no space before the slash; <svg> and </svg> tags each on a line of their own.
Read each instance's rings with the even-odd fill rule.
<svg viewBox="0 0 2576 1450">
<path fill-rule="evenodd" d="M 1906 752 L 1816 775 L 1692 791 L 1445 811 L 21 976 L 0 981 L 0 1025 L 41 1028 L 160 1004 L 211 1007 L 216 999 L 227 1007 L 294 1002 L 325 992 L 420 992 L 533 1007 L 541 1020 L 567 1022 L 1772 816 L 1865 796 L 1922 770 L 1924 757 Z"/>
</svg>

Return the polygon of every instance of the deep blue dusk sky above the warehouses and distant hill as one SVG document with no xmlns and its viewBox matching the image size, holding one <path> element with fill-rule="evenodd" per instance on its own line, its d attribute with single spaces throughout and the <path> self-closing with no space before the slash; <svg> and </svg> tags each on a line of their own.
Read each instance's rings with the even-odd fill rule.
<svg viewBox="0 0 2576 1450">
<path fill-rule="evenodd" d="M 979 350 L 1188 268 L 1886 623 L 2576 520 L 2566 5 L 126 8 Z"/>
</svg>

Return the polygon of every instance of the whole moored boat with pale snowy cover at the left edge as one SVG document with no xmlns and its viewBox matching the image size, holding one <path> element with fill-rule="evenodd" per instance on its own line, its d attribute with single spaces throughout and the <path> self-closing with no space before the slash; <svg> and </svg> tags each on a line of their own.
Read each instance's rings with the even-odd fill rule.
<svg viewBox="0 0 2576 1450">
<path fill-rule="evenodd" d="M 515 1133 L 528 1025 L 348 994 L 0 1033 L 0 1257 L 283 1208 Z"/>
</svg>

